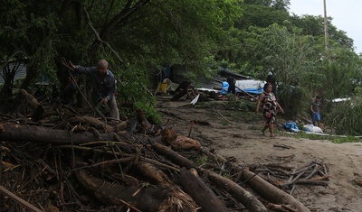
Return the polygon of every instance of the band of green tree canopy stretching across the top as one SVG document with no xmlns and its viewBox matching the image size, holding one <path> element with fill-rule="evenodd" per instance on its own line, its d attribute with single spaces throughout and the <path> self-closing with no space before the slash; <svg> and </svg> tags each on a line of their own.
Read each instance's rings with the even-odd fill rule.
<svg viewBox="0 0 362 212">
<path fill-rule="evenodd" d="M 14 84 L 6 61 L 26 62 L 21 88 L 32 87 L 43 74 L 62 88 L 67 71 L 60 58 L 84 66 L 106 58 L 119 79 L 119 93 L 132 96 L 137 106 L 152 107 L 153 78 L 176 64 L 194 78 L 217 74 L 221 64 L 261 79 L 272 69 L 286 90 L 300 89 L 301 107 L 314 94 L 346 97 L 360 87 L 361 57 L 353 40 L 329 17 L 326 49 L 324 19 L 290 14 L 288 0 L 5 0 L 0 5 L 6 14 L 0 20 L 2 77 L 7 76 L 2 98 L 12 96 Z M 289 93 L 281 94 L 288 104 Z"/>
</svg>

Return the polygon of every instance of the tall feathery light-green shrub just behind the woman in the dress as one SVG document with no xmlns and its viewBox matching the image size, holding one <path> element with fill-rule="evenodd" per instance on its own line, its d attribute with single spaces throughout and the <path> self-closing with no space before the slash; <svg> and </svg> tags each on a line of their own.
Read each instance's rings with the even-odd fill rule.
<svg viewBox="0 0 362 212">
<path fill-rule="evenodd" d="M 309 39 L 297 30 L 289 32 L 287 27 L 272 24 L 267 28 L 252 29 L 253 48 L 257 51 L 258 63 L 273 70 L 277 79 L 276 95 L 287 115 L 297 115 L 305 108 L 310 80 L 315 74 L 315 63 Z M 264 70 L 264 75 L 266 71 Z M 266 78 L 266 76 L 264 77 Z M 309 101 L 308 101 L 309 102 Z"/>
</svg>

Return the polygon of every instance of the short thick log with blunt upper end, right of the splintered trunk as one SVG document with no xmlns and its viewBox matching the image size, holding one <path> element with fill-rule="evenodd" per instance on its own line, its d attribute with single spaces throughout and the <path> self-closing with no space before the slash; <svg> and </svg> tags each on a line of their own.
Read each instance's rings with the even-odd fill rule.
<svg viewBox="0 0 362 212">
<path fill-rule="evenodd" d="M 198 176 L 195 169 L 182 169 L 180 173 L 181 185 L 184 190 L 195 200 L 200 211 L 203 212 L 226 212 L 227 208 L 223 202 L 216 197 L 214 191 L 210 189 Z"/>
</svg>

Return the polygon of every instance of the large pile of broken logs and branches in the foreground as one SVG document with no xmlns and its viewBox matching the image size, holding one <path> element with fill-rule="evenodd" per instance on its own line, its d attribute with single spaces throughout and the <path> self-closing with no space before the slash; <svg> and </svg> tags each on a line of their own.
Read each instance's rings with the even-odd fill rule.
<svg viewBox="0 0 362 212">
<path fill-rule="evenodd" d="M 306 212 L 282 187 L 310 169 L 327 175 L 313 162 L 273 185 L 140 110 L 112 124 L 67 106 L 49 110 L 36 121 L 0 117 L 0 211 Z"/>
</svg>

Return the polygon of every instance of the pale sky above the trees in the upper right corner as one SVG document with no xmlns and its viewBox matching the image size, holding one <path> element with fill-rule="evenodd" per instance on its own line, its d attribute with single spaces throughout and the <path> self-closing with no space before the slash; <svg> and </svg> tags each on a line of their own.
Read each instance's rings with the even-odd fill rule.
<svg viewBox="0 0 362 212">
<path fill-rule="evenodd" d="M 290 0 L 290 13 L 324 16 L 323 0 Z M 362 52 L 362 0 L 326 0 L 332 24 L 353 39 L 357 54 Z"/>
</svg>

